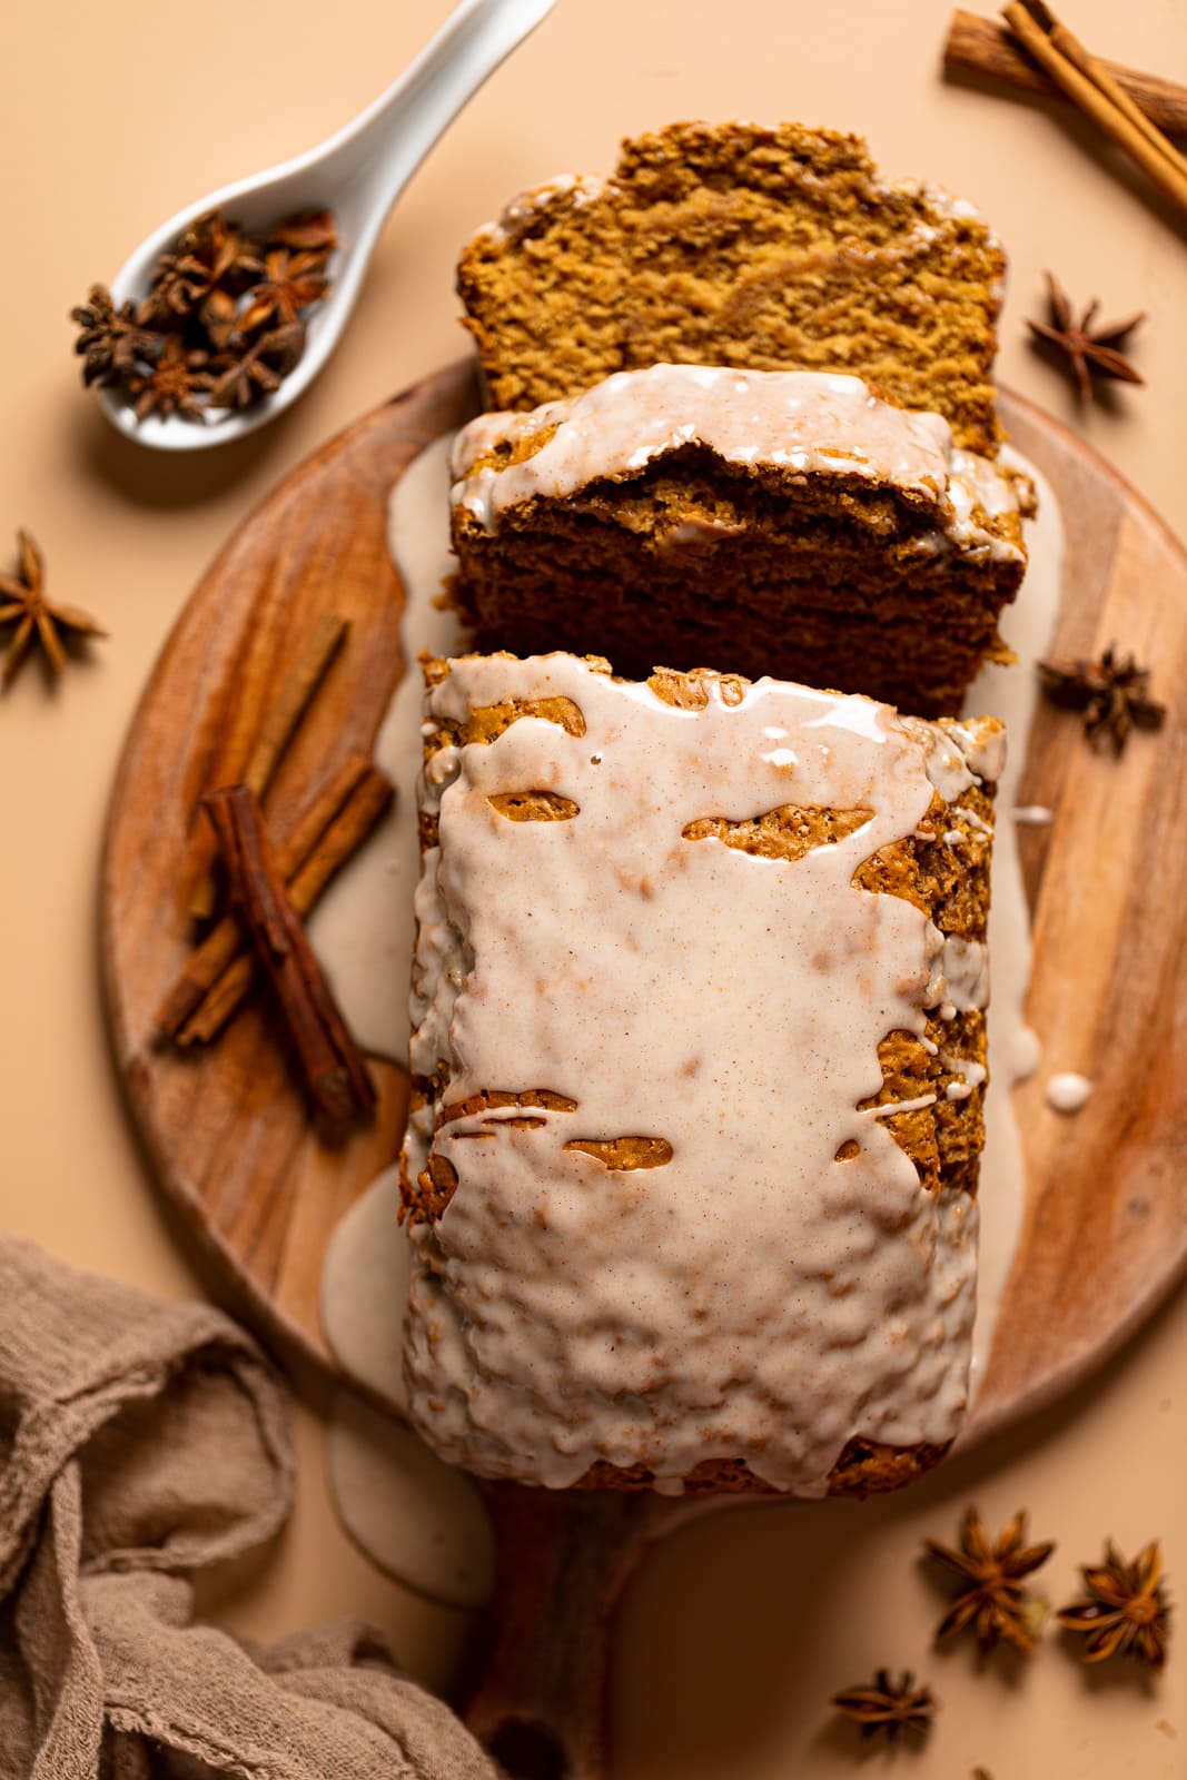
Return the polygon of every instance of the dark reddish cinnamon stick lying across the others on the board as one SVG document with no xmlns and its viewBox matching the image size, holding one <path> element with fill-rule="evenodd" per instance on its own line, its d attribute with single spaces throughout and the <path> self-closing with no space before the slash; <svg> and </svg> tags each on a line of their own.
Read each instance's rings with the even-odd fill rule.
<svg viewBox="0 0 1187 1780">
<path fill-rule="evenodd" d="M 313 1105 L 335 1125 L 368 1118 L 375 1089 L 285 894 L 254 790 L 233 785 L 208 792 L 203 806 L 226 865 L 231 904 L 269 974 Z"/>
</svg>

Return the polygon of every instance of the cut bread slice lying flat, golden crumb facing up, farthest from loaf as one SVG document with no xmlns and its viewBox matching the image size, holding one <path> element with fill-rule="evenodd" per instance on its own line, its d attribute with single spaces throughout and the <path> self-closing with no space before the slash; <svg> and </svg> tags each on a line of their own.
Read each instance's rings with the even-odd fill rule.
<svg viewBox="0 0 1187 1780">
<path fill-rule="evenodd" d="M 457 288 L 493 408 L 657 361 L 851 372 L 991 456 L 1005 258 L 965 199 L 803 125 L 674 123 L 525 192 Z"/>
</svg>

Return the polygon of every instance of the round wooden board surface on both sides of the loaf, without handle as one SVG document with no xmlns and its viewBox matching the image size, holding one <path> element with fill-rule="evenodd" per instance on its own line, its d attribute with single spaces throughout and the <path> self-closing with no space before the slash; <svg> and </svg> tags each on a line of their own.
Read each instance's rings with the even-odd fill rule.
<svg viewBox="0 0 1187 1780">
<path fill-rule="evenodd" d="M 167 1198 L 265 1333 L 335 1372 L 319 1312 L 331 1232 L 393 1159 L 399 1068 L 374 1063 L 379 1114 L 338 1148 L 313 1132 L 265 1015 L 251 1006 L 208 1050 L 160 1048 L 153 1015 L 189 947 L 199 797 L 242 771 L 246 673 L 274 685 L 311 618 L 351 619 L 269 812 L 283 822 L 349 748 L 370 749 L 406 671 L 388 495 L 432 438 L 473 408 L 468 363 L 377 408 L 295 470 L 240 527 L 185 607 L 144 692 L 116 780 L 101 885 L 101 952 L 119 1072 Z M 1080 440 L 1020 397 L 1002 408 L 1059 495 L 1068 532 L 1054 650 L 1110 641 L 1187 669 L 1187 557 Z M 1020 801 L 1055 810 L 1021 835 L 1036 967 L 1029 1020 L 1094 1093 L 1075 1118 L 1043 1082 L 1016 1088 L 1027 1212 L 977 1428 L 1000 1428 L 1098 1365 L 1187 1264 L 1187 862 L 1183 707 L 1123 758 L 1086 746 L 1043 705 Z"/>
</svg>

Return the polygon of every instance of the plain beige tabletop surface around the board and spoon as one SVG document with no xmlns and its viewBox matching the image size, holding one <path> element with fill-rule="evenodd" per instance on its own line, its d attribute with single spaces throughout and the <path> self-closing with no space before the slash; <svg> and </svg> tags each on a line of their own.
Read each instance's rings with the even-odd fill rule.
<svg viewBox="0 0 1187 1780">
<path fill-rule="evenodd" d="M 1182 0 L 1070 0 L 1100 52 L 1187 82 Z M 1180 530 L 1187 411 L 1185 242 L 1087 134 L 1039 107 L 945 85 L 941 0 L 561 0 L 434 151 L 392 219 L 329 372 L 285 422 L 228 452 L 151 457 L 107 431 L 77 386 L 66 310 L 160 217 L 343 123 L 399 71 L 445 0 L 206 0 L 166 9 L 62 0 L 5 9 L 0 107 L 4 283 L 0 554 L 18 523 L 53 587 L 112 639 L 59 694 L 27 671 L 0 701 L 0 1219 L 57 1253 L 162 1294 L 196 1290 L 128 1127 L 96 984 L 94 885 L 107 790 L 139 689 L 187 591 L 231 527 L 308 450 L 461 347 L 457 242 L 525 183 L 602 169 L 619 135 L 676 116 L 803 117 L 865 132 L 890 173 L 975 199 L 1011 253 L 1002 374 L 1082 425 Z M 1150 310 L 1150 388 L 1077 417 L 1025 345 L 1041 269 Z M 1157 837 L 1151 837 L 1157 844 Z M 1150 936 L 1159 943 L 1159 934 Z M 900 1499 L 747 1508 L 660 1549 L 621 1625 L 614 1744 L 621 1780 L 824 1780 L 856 1769 L 828 1695 L 877 1663 L 913 1666 L 943 1700 L 920 1776 L 1103 1780 L 1187 1773 L 1187 1652 L 1160 1686 L 1086 1677 L 1057 1636 L 1023 1670 L 929 1648 L 938 1597 L 924 1533 L 970 1495 L 1016 1506 L 1061 1545 L 1064 1598 L 1103 1534 L 1160 1533 L 1187 1577 L 1187 1296 L 1041 1426 L 954 1461 Z M 272 1636 L 338 1613 L 386 1627 L 447 1686 L 461 1616 L 379 1577 L 338 1533 L 322 1433 L 301 1413 L 303 1486 L 279 1547 L 221 1577 L 208 1609 Z M 874 1771 L 883 1771 L 879 1757 Z"/>
</svg>

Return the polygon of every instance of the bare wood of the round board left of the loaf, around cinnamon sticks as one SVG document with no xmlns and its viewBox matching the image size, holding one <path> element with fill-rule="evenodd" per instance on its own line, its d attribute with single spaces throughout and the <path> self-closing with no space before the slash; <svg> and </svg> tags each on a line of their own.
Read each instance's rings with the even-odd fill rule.
<svg viewBox="0 0 1187 1780">
<path fill-rule="evenodd" d="M 319 700 L 276 774 L 283 824 L 351 748 L 370 751 L 404 673 L 402 587 L 386 545 L 388 491 L 473 406 L 468 365 L 384 404 L 308 459 L 214 562 L 137 710 L 112 792 L 101 876 L 101 959 L 116 1059 L 160 1184 L 256 1324 L 329 1367 L 322 1255 L 358 1194 L 399 1150 L 408 1084 L 374 1061 L 375 1121 L 338 1148 L 311 1130 L 260 1004 L 208 1050 L 153 1041 L 153 1015 L 189 949 L 201 794 L 242 774 L 246 671 L 274 691 L 317 616 L 351 621 Z M 178 862 L 190 872 L 180 874 Z"/>
</svg>

